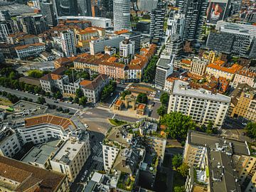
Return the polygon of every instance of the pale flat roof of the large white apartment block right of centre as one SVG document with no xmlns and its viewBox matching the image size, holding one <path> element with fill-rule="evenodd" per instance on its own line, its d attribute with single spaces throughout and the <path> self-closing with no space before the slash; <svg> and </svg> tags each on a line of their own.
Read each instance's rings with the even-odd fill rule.
<svg viewBox="0 0 256 192">
<path fill-rule="evenodd" d="M 204 100 L 217 100 L 220 102 L 230 102 L 231 98 L 225 95 L 221 95 L 219 93 L 212 93 L 209 90 L 205 89 L 192 89 L 189 86 L 188 82 L 183 82 L 181 80 L 174 81 L 174 87 L 172 90 L 174 95 L 184 95 L 187 97 L 198 97 Z"/>
</svg>

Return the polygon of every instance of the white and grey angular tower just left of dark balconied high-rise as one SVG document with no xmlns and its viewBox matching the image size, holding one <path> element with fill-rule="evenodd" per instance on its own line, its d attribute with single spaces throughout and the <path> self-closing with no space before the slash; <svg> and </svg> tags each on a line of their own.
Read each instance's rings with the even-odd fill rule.
<svg viewBox="0 0 256 192">
<path fill-rule="evenodd" d="M 178 14 L 177 11 L 171 11 L 167 20 L 166 36 L 178 34 L 183 38 L 185 21 L 184 14 Z"/>
</svg>

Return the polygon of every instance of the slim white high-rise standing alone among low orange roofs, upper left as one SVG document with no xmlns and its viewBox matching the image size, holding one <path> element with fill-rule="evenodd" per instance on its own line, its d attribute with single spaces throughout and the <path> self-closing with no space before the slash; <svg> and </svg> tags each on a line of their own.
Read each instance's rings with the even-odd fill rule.
<svg viewBox="0 0 256 192">
<path fill-rule="evenodd" d="M 66 57 L 76 55 L 75 33 L 72 30 L 62 31 L 60 34 L 61 48 Z"/>
</svg>

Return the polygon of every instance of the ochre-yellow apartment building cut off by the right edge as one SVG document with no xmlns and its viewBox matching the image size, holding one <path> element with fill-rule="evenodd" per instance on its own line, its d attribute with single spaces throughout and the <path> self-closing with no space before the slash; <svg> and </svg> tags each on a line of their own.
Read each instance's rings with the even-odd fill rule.
<svg viewBox="0 0 256 192">
<path fill-rule="evenodd" d="M 244 117 L 256 122 L 256 89 L 240 84 L 231 95 L 233 108 L 231 117 Z"/>
</svg>

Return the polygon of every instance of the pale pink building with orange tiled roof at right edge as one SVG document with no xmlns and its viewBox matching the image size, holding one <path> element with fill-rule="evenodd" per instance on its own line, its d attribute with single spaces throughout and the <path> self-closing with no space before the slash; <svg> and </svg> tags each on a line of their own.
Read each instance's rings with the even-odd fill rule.
<svg viewBox="0 0 256 192">
<path fill-rule="evenodd" d="M 246 83 L 250 87 L 256 88 L 256 73 L 249 69 L 242 69 L 235 74 L 233 85 L 237 87 L 239 84 Z"/>
</svg>

